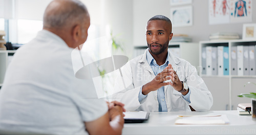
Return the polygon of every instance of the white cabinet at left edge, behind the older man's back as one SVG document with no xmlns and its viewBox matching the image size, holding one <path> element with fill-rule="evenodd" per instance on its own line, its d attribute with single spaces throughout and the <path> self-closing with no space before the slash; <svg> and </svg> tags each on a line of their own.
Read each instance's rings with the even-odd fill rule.
<svg viewBox="0 0 256 135">
<path fill-rule="evenodd" d="M 14 53 L 14 50 L 0 51 L 0 88 L 3 85 L 5 72 Z"/>
</svg>

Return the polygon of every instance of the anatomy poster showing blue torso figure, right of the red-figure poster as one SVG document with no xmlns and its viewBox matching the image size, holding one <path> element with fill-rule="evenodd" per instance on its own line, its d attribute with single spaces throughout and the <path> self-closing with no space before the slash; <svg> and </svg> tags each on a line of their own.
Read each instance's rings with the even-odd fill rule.
<svg viewBox="0 0 256 135">
<path fill-rule="evenodd" d="M 230 0 L 230 21 L 252 21 L 252 0 Z"/>
</svg>

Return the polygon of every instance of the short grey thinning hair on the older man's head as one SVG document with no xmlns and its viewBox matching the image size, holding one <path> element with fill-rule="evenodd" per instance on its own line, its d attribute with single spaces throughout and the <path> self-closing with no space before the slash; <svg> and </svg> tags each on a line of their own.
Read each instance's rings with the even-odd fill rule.
<svg viewBox="0 0 256 135">
<path fill-rule="evenodd" d="M 82 23 L 89 15 L 86 6 L 79 0 L 54 0 L 46 8 L 44 28 L 63 28 L 74 23 Z"/>
</svg>

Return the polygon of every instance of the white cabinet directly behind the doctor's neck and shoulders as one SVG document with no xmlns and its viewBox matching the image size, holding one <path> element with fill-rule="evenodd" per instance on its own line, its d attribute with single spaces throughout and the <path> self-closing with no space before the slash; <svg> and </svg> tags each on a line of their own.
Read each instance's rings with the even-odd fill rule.
<svg viewBox="0 0 256 135">
<path fill-rule="evenodd" d="M 147 46 L 134 47 L 134 57 L 145 52 Z M 198 69 L 199 67 L 199 43 L 195 42 L 169 42 L 170 52 L 182 59 L 187 60 Z"/>
</svg>

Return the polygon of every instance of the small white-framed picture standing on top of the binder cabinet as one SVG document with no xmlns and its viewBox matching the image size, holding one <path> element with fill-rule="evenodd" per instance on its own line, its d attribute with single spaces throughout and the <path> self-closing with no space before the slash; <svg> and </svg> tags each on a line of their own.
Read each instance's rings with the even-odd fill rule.
<svg viewBox="0 0 256 135">
<path fill-rule="evenodd" d="M 243 39 L 246 39 L 246 40 L 256 39 L 256 24 L 243 25 Z"/>
</svg>

